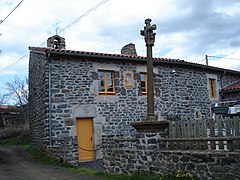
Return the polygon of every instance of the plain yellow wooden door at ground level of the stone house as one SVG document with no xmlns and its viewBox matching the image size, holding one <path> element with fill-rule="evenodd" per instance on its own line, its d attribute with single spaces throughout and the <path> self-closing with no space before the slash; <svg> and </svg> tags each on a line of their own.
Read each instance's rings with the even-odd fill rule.
<svg viewBox="0 0 240 180">
<path fill-rule="evenodd" d="M 78 159 L 79 161 L 94 160 L 93 120 L 77 119 Z"/>
</svg>

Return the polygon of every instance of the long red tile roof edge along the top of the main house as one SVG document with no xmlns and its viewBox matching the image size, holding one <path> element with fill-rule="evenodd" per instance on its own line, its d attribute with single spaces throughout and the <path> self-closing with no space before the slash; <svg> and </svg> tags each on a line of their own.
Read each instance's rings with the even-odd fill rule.
<svg viewBox="0 0 240 180">
<path fill-rule="evenodd" d="M 74 55 L 74 56 L 90 56 L 90 57 L 101 57 L 101 58 L 118 58 L 118 59 L 128 59 L 128 60 L 146 60 L 144 56 L 131 56 L 131 55 L 123 55 L 123 54 L 109 54 L 109 53 L 99 53 L 99 52 L 87 52 L 87 51 L 76 51 L 76 50 L 65 50 L 65 49 L 54 49 L 54 48 L 47 48 L 47 47 L 29 47 L 30 51 L 33 52 L 42 52 L 42 53 L 49 53 L 49 54 L 59 54 L 59 55 Z M 224 72 L 230 72 L 234 74 L 240 75 L 239 71 L 223 69 L 213 66 L 207 66 L 204 64 L 198 64 L 193 62 L 188 62 L 180 59 L 170 59 L 170 58 L 153 58 L 154 61 L 159 61 L 163 63 L 174 63 L 174 64 L 182 64 L 188 65 L 193 67 L 200 67 L 206 68 L 210 70 L 218 70 Z"/>
</svg>

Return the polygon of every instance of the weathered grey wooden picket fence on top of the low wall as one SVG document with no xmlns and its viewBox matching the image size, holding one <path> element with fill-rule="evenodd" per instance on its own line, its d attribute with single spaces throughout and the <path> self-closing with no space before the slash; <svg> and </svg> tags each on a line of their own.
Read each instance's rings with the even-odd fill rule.
<svg viewBox="0 0 240 180">
<path fill-rule="evenodd" d="M 228 150 L 240 149 L 240 117 L 216 115 L 215 119 L 170 121 L 168 149 Z"/>
</svg>

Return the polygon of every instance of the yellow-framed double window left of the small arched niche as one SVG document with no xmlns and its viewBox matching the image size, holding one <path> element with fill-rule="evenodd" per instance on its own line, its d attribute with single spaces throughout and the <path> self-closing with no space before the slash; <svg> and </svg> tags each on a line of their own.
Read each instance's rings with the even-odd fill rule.
<svg viewBox="0 0 240 180">
<path fill-rule="evenodd" d="M 114 72 L 98 71 L 98 92 L 99 95 L 114 95 Z"/>
</svg>

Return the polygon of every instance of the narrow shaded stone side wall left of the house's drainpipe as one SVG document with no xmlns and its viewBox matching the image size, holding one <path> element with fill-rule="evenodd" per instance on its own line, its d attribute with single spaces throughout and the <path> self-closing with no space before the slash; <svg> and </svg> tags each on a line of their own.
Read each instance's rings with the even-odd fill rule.
<svg viewBox="0 0 240 180">
<path fill-rule="evenodd" d="M 48 63 L 45 54 L 30 54 L 29 59 L 29 128 L 32 145 L 47 149 L 48 126 Z"/>
</svg>

